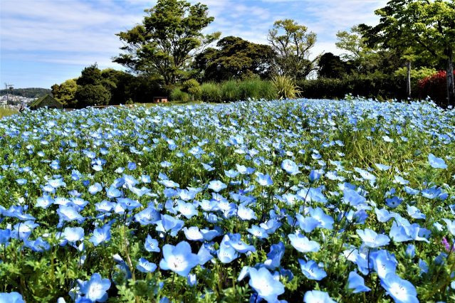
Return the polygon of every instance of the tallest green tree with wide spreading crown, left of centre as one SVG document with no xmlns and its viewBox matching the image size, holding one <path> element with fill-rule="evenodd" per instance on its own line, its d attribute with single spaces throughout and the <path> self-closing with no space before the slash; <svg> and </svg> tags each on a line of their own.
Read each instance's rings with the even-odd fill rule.
<svg viewBox="0 0 455 303">
<path fill-rule="evenodd" d="M 184 78 L 188 63 L 221 33 L 202 31 L 214 18 L 204 4 L 191 5 L 182 0 L 158 0 L 147 9 L 142 24 L 117 33 L 125 53 L 113 59 L 135 73 L 159 75 L 165 85 Z"/>
</svg>

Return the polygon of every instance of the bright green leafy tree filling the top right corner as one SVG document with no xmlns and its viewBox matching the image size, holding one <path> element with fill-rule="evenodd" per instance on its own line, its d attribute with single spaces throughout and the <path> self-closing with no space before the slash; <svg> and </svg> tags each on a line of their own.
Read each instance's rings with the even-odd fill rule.
<svg viewBox="0 0 455 303">
<path fill-rule="evenodd" d="M 362 27 L 372 40 L 408 52 L 409 77 L 409 53 L 428 52 L 446 62 L 447 104 L 454 104 L 455 0 L 391 0 L 375 14 L 380 23 Z"/>
</svg>

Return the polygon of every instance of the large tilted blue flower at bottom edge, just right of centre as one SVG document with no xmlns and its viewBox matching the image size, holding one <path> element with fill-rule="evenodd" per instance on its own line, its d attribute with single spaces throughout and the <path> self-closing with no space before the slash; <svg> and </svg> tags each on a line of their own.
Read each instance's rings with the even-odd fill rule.
<svg viewBox="0 0 455 303">
<path fill-rule="evenodd" d="M 258 296 L 267 302 L 276 302 L 278 296 L 284 293 L 284 285 L 273 278 L 273 275 L 264 267 L 259 270 L 249 268 L 249 285 L 258 293 Z"/>
</svg>

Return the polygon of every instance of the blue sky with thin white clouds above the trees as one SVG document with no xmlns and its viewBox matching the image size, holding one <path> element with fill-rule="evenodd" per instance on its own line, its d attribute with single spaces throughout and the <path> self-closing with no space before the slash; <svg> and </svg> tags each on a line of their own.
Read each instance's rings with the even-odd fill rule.
<svg viewBox="0 0 455 303">
<path fill-rule="evenodd" d="M 191 1 L 198 2 L 198 1 Z M 293 18 L 318 34 L 313 54 L 331 51 L 337 31 L 374 24 L 387 0 L 199 0 L 209 6 L 207 32 L 266 43 L 281 18 Z M 1 0 L 0 85 L 51 87 L 76 78 L 85 66 L 117 68 L 121 46 L 115 33 L 140 23 L 150 0 Z"/>
</svg>

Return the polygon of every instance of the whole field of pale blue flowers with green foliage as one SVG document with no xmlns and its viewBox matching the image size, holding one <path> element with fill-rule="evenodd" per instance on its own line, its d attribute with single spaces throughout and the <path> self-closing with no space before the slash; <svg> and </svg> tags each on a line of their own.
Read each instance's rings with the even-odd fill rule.
<svg viewBox="0 0 455 303">
<path fill-rule="evenodd" d="M 455 302 L 455 110 L 0 120 L 0 302 Z"/>
</svg>

